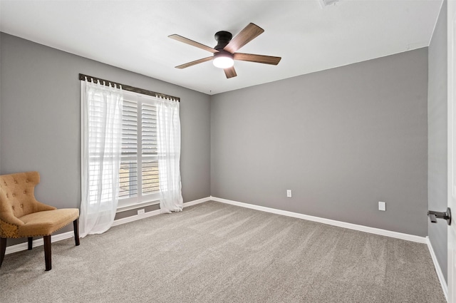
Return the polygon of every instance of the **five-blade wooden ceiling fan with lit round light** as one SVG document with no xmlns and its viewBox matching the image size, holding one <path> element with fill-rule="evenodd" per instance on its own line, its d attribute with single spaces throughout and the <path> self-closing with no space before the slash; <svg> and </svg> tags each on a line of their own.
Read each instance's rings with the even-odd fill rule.
<svg viewBox="0 0 456 303">
<path fill-rule="evenodd" d="M 253 53 L 236 53 L 236 51 L 239 48 L 242 48 L 242 46 L 246 45 L 254 38 L 257 38 L 257 36 L 259 36 L 263 32 L 264 29 L 261 29 L 261 27 L 253 23 L 247 25 L 234 38 L 233 35 L 228 31 L 217 31 L 217 33 L 215 33 L 215 40 L 217 41 L 217 46 L 215 46 L 214 48 L 205 46 L 204 44 L 198 43 L 196 41 L 190 40 L 189 38 L 185 38 L 176 34 L 170 35 L 168 37 L 183 43 L 190 44 L 191 46 L 196 46 L 197 48 L 202 48 L 205 51 L 210 51 L 211 53 L 214 53 L 214 55 L 210 57 L 188 62 L 180 66 L 176 66 L 176 68 L 187 68 L 189 66 L 194 66 L 198 63 L 203 63 L 212 60 L 214 66 L 217 66 L 218 68 L 223 68 L 227 78 L 232 78 L 237 76 L 237 73 L 234 70 L 234 60 L 266 63 L 271 65 L 279 64 L 281 57 L 254 55 Z"/>
</svg>

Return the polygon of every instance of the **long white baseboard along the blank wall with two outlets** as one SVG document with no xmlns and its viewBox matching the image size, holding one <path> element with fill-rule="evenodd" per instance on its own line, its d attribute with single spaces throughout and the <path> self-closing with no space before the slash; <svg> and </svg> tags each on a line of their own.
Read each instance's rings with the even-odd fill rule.
<svg viewBox="0 0 456 303">
<path fill-rule="evenodd" d="M 248 204 L 248 203 L 244 203 L 244 202 L 237 202 L 237 201 L 222 199 L 219 197 L 211 196 L 210 200 L 216 201 L 216 202 L 222 202 L 222 203 L 226 203 L 226 204 L 231 204 L 231 205 L 237 205 L 237 206 L 246 207 L 246 208 L 251 208 L 252 210 L 261 210 L 263 212 L 271 212 L 271 213 L 274 213 L 277 215 L 285 215 L 288 217 L 296 217 L 299 219 L 320 222 L 323 224 L 334 225 L 334 226 L 338 226 L 338 227 L 344 227 L 344 228 L 348 228 L 350 230 L 359 230 L 361 232 L 370 232 L 371 234 L 375 234 L 375 235 L 394 237 L 394 238 L 398 238 L 398 239 L 402 239 L 402 240 L 408 240 L 408 241 L 419 242 L 419 243 L 424 243 L 424 244 L 427 243 L 426 237 L 408 235 L 408 234 L 404 234 L 402 232 L 392 232 L 390 230 L 382 230 L 380 228 L 375 228 L 375 227 L 368 227 L 368 226 L 364 226 L 364 225 L 357 225 L 357 224 L 352 224 L 352 223 L 347 223 L 347 222 L 342 222 L 342 221 L 325 219 L 323 217 L 314 217 L 311 215 L 304 215 L 304 214 L 300 214 L 297 212 L 289 212 L 287 210 L 277 210 L 276 208 L 253 205 L 253 204 Z"/>
</svg>

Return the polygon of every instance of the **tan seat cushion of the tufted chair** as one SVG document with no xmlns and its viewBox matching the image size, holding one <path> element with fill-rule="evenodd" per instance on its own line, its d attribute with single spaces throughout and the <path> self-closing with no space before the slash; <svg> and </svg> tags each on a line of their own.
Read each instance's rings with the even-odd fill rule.
<svg viewBox="0 0 456 303">
<path fill-rule="evenodd" d="M 59 210 L 45 210 L 42 212 L 33 212 L 19 217 L 24 225 L 19 226 L 19 237 L 38 237 L 51 235 L 56 230 L 70 224 L 78 219 L 78 208 L 62 208 Z"/>
</svg>

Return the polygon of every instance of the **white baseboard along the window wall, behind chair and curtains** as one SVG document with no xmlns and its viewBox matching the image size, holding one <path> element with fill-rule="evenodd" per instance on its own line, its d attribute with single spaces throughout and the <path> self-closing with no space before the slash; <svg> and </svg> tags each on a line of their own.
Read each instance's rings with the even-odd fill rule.
<svg viewBox="0 0 456 303">
<path fill-rule="evenodd" d="M 184 203 L 184 207 L 188 207 L 188 206 L 191 206 L 191 205 L 196 205 L 196 204 L 199 204 L 199 203 L 202 203 L 202 202 L 207 202 L 209 200 L 210 200 L 210 197 L 204 197 L 204 198 L 199 199 L 199 200 L 193 200 L 193 201 L 190 201 L 190 202 L 185 202 Z M 130 217 L 124 217 L 122 219 L 115 220 L 113 222 L 113 226 L 125 224 L 125 223 L 128 223 L 128 222 L 133 222 L 133 221 L 136 221 L 136 220 L 144 219 L 145 217 L 152 217 L 154 215 L 159 215 L 159 214 L 160 214 L 160 210 L 152 210 L 152 212 L 145 212 L 142 215 L 133 215 L 133 216 L 130 216 Z M 57 241 L 69 239 L 71 237 L 74 237 L 74 232 L 63 232 L 61 234 L 52 235 L 51 242 L 57 242 Z M 37 247 L 37 246 L 41 246 L 41 245 L 43 245 L 43 239 L 33 240 L 32 247 Z M 16 245 L 11 245 L 9 247 L 6 247 L 5 255 L 12 254 L 14 252 L 20 252 L 21 250 L 27 250 L 27 249 L 28 249 L 27 242 L 19 243 L 19 244 L 16 244 Z"/>
</svg>

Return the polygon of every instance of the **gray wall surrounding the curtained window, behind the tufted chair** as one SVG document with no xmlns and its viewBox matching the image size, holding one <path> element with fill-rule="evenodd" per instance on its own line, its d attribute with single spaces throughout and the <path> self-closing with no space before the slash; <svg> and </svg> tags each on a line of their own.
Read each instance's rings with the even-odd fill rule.
<svg viewBox="0 0 456 303">
<path fill-rule="evenodd" d="M 36 197 L 81 203 L 79 73 L 181 98 L 184 201 L 210 195 L 210 97 L 137 73 L 1 33 L 0 173 L 38 170 Z M 153 210 L 156 207 L 147 207 Z M 120 212 L 116 218 L 135 215 Z M 68 230 L 68 229 L 67 229 Z M 67 231 L 63 230 L 63 231 Z M 71 230 L 71 229 L 69 229 Z M 14 241 L 9 241 L 9 245 Z"/>
</svg>

